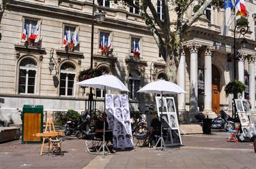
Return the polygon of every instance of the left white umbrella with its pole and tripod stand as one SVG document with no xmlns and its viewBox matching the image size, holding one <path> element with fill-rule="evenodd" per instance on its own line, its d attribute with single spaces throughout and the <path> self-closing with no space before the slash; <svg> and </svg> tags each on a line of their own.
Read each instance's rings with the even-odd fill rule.
<svg viewBox="0 0 256 169">
<path fill-rule="evenodd" d="M 76 83 L 80 86 L 84 86 L 84 87 L 89 87 L 89 88 L 98 88 L 98 89 L 104 89 L 104 91 L 106 92 L 106 90 L 118 90 L 118 91 L 124 91 L 124 92 L 129 92 L 128 88 L 126 88 L 126 86 L 124 86 L 124 83 L 122 83 L 122 81 L 120 81 L 117 77 L 113 76 L 113 75 L 101 75 L 99 77 L 94 77 L 91 79 L 87 79 L 84 81 L 80 81 L 79 83 Z M 104 96 L 104 111 L 106 109 L 106 97 Z M 104 125 L 103 125 L 103 144 L 100 147 L 100 149 L 102 149 L 102 157 L 105 156 L 105 147 L 106 147 L 106 143 L 105 143 L 105 121 L 104 121 Z M 100 150 L 99 149 L 99 150 Z M 106 147 L 106 149 L 109 150 L 108 147 Z"/>
</svg>

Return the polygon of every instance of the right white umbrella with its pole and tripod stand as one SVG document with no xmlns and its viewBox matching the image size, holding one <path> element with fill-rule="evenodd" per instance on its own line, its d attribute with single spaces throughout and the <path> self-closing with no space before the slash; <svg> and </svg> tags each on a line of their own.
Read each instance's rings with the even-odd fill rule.
<svg viewBox="0 0 256 169">
<path fill-rule="evenodd" d="M 152 83 L 148 83 L 146 86 L 141 88 L 138 92 L 145 92 L 145 93 L 156 93 L 161 94 L 180 94 L 180 93 L 186 93 L 180 86 L 177 86 L 175 83 L 165 81 L 165 80 L 159 80 L 154 81 Z M 162 107 L 162 104 L 161 104 Z M 162 115 L 162 111 L 161 111 Z M 165 140 L 162 137 L 162 118 L 161 118 L 161 136 L 158 139 L 156 146 L 158 145 L 158 142 L 161 141 L 161 149 L 165 150 Z M 163 147 L 162 147 L 163 145 Z"/>
</svg>

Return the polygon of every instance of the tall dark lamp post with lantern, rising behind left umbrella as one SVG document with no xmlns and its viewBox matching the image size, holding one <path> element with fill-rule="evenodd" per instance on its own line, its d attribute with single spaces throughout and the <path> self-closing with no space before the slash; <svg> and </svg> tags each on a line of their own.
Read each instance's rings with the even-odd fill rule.
<svg viewBox="0 0 256 169">
<path fill-rule="evenodd" d="M 90 69 L 93 69 L 94 62 L 94 18 L 96 18 L 96 22 L 103 22 L 105 19 L 104 12 L 98 10 L 95 12 L 95 0 L 92 1 L 92 16 L 91 16 L 91 60 L 90 60 Z M 95 14 L 94 14 L 95 13 Z M 92 93 L 92 88 L 90 88 L 89 92 L 89 113 L 91 115 L 92 112 L 92 102 L 94 100 L 94 94 Z"/>
</svg>

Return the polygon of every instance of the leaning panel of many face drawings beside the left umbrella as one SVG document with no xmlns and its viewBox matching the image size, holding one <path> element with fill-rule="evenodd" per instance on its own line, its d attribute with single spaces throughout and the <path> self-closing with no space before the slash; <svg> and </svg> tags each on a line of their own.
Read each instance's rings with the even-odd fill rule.
<svg viewBox="0 0 256 169">
<path fill-rule="evenodd" d="M 107 94 L 106 115 L 109 129 L 113 130 L 113 146 L 120 149 L 133 147 L 128 96 Z"/>
</svg>

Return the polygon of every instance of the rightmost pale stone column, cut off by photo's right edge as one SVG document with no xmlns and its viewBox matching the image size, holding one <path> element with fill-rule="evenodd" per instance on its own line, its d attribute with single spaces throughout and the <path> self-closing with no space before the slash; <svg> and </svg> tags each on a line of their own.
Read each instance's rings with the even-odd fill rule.
<svg viewBox="0 0 256 169">
<path fill-rule="evenodd" d="M 249 63 L 249 97 L 252 105 L 251 112 L 255 112 L 255 56 L 248 58 Z"/>
</svg>

